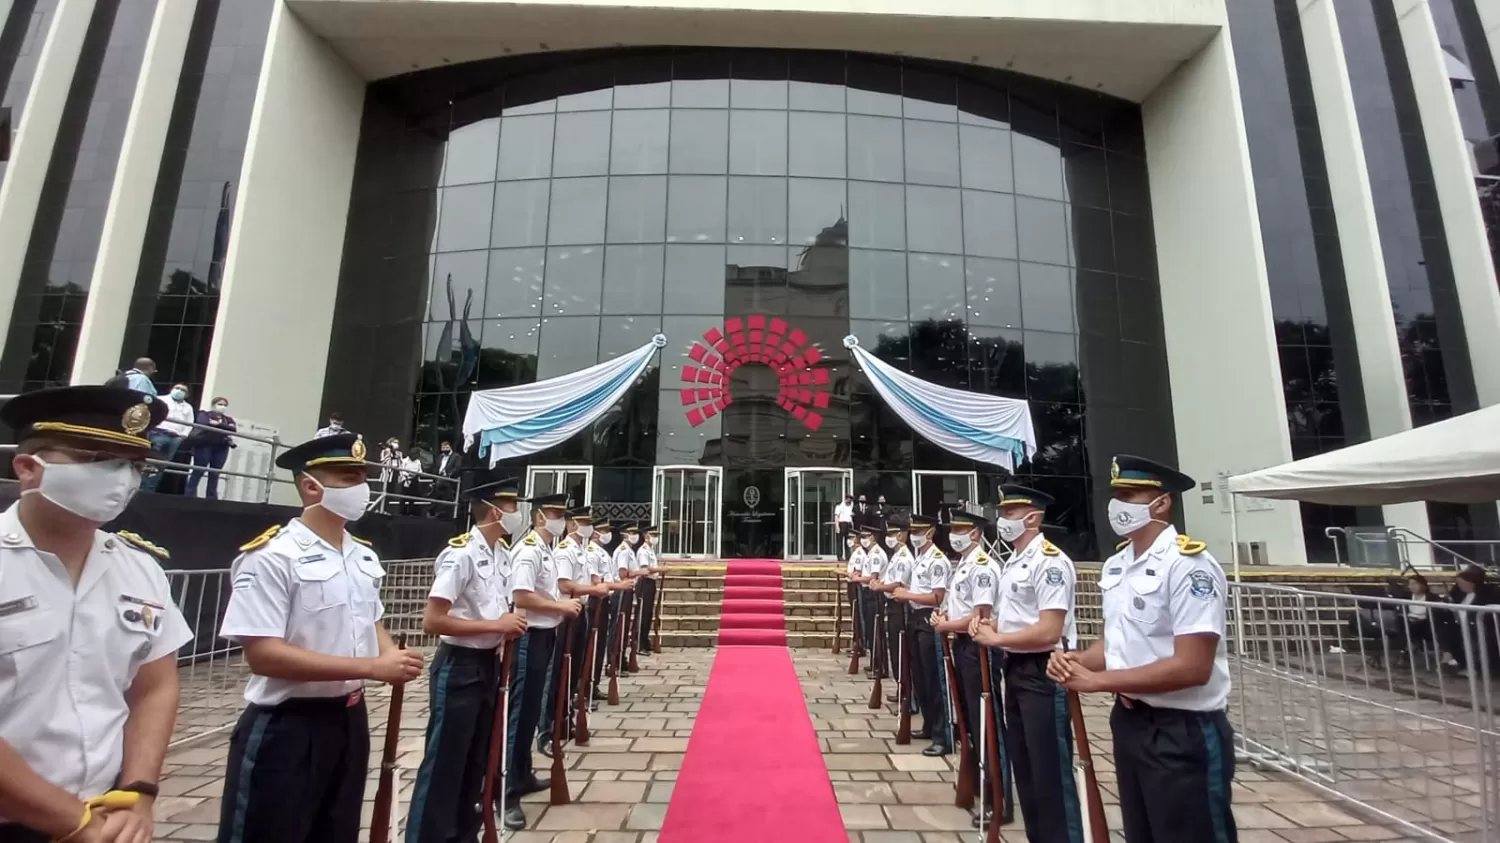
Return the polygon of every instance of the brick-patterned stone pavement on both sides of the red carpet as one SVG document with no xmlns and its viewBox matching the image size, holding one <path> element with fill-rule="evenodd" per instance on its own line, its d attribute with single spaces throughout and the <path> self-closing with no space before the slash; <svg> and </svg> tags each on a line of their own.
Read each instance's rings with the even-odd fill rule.
<svg viewBox="0 0 1500 843">
<path fill-rule="evenodd" d="M 642 656 L 640 672 L 622 675 L 621 705 L 600 705 L 591 720 L 588 747 L 568 747 L 568 789 L 573 804 L 549 807 L 546 794 L 524 800 L 526 831 L 510 834 L 512 843 L 656 843 L 676 782 L 693 717 L 704 699 L 712 664 L 712 650 L 676 650 Z M 802 684 L 813 728 L 824 748 L 850 843 L 957 843 L 975 840 L 969 814 L 952 807 L 952 764 L 957 756 L 921 756 L 926 741 L 894 746 L 896 716 L 867 708 L 870 684 L 849 676 L 848 658 L 826 651 L 794 650 L 792 660 Z M 184 698 L 204 696 L 196 676 L 184 678 Z M 213 676 L 214 687 L 224 684 Z M 894 690 L 892 682 L 886 682 Z M 212 694 L 210 694 L 212 696 Z M 194 712 L 178 736 L 202 735 L 176 746 L 166 758 L 162 796 L 158 801 L 158 840 L 213 840 L 224 790 L 228 728 L 238 716 L 232 694 L 216 712 L 218 730 L 207 710 Z M 364 820 L 375 798 L 380 748 L 386 729 L 388 690 L 369 694 L 372 723 L 370 777 L 366 786 Z M 1114 770 L 1110 762 L 1107 700 L 1086 706 L 1090 744 L 1100 771 L 1106 813 L 1119 828 Z M 406 688 L 400 728 L 402 766 L 398 786 L 398 834 L 405 825 L 416 770 L 422 760 L 428 718 L 426 678 Z M 921 724 L 914 717 L 914 729 Z M 207 734 L 204 734 L 207 732 Z M 536 758 L 546 776 L 550 759 Z M 1234 783 L 1234 814 L 1240 843 L 1332 843 L 1344 840 L 1408 840 L 1410 834 L 1377 824 L 1335 796 L 1288 777 L 1240 768 Z M 1456 840 L 1470 830 L 1443 828 Z M 394 836 L 393 836 L 394 837 Z M 1119 831 L 1112 834 L 1124 840 Z M 399 837 L 394 837 L 399 838 Z M 1024 840 L 1020 822 L 1006 826 L 1002 838 Z M 1478 837 L 1472 837 L 1478 840 Z M 795 831 L 786 840 L 795 843 Z"/>
</svg>

